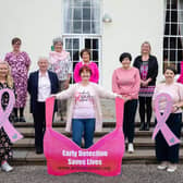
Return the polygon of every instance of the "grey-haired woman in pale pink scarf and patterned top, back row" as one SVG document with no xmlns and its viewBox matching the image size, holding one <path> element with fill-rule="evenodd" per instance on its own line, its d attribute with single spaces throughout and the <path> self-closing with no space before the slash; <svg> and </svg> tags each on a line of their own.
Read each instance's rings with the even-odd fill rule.
<svg viewBox="0 0 183 183">
<path fill-rule="evenodd" d="M 72 61 L 70 53 L 63 50 L 63 40 L 58 37 L 53 39 L 54 51 L 49 53 L 49 62 L 51 71 L 56 72 L 59 78 L 59 90 L 69 88 L 72 74 Z M 58 117 L 63 120 L 66 113 L 66 100 L 58 102 Z"/>
</svg>

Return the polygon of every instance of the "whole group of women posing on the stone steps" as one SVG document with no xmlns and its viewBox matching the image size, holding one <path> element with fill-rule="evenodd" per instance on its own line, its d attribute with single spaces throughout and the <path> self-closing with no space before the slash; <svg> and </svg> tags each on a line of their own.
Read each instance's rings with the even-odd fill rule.
<svg viewBox="0 0 183 183">
<path fill-rule="evenodd" d="M 16 96 L 16 102 L 13 110 L 14 118 L 10 115 L 10 118 L 12 118 L 11 121 L 14 122 L 25 122 L 24 107 L 27 95 L 27 73 L 30 64 L 28 54 L 20 50 L 21 44 L 22 41 L 20 38 L 14 38 L 12 40 L 13 51 L 7 53 L 4 59 L 5 61 L 0 62 L 0 88 L 12 88 L 14 89 Z M 115 97 L 120 97 L 125 101 L 123 132 L 125 139 L 127 141 L 127 151 L 133 152 L 137 103 L 139 103 L 139 130 L 149 131 L 152 109 L 155 110 L 155 107 L 152 108 L 154 100 L 157 95 L 168 93 L 172 97 L 174 105 L 172 107 L 172 113 L 167 120 L 167 124 L 178 137 L 181 136 L 183 85 L 174 82 L 175 70 L 169 66 L 164 70 L 166 82 L 156 86 L 158 61 L 155 56 L 150 54 L 151 48 L 149 42 L 143 42 L 141 56 L 134 60 L 133 65 L 131 64 L 132 56 L 129 52 L 123 52 L 120 56 L 119 60 L 121 62 L 121 66 L 114 70 L 112 75 L 112 91 L 107 91 L 98 85 L 99 71 L 97 64 L 90 61 L 90 51 L 88 49 L 83 49 L 81 51 L 82 61 L 75 65 L 73 74 L 75 84 L 69 86 L 72 75 L 70 53 L 63 50 L 63 41 L 61 38 L 53 39 L 53 47 L 54 51 L 49 53 L 49 59 L 39 59 L 39 70 L 37 73 L 35 72 L 30 74 L 28 78 L 28 91 L 30 97 L 33 90 L 30 77 L 33 77 L 34 74 L 37 74 L 38 80 L 40 80 L 36 87 L 36 102 L 42 106 L 42 118 L 36 120 L 37 117 L 35 115 L 39 115 L 40 113 L 33 113 L 35 124 L 41 121 L 44 126 L 45 123 L 44 112 L 46 97 L 44 96 L 44 93 L 46 93 L 47 97 L 54 96 L 56 99 L 58 99 L 58 115 L 61 120 L 63 120 L 63 117 L 68 111 L 66 131 L 72 131 L 72 138 L 78 146 L 82 146 L 82 137 L 84 136 L 84 147 L 88 148 L 93 145 L 94 132 L 101 131 L 102 129 L 99 98 L 114 99 Z M 47 61 L 50 63 L 49 72 L 47 71 Z M 12 72 L 12 76 L 10 71 Z M 52 83 L 49 82 L 51 73 L 57 75 L 53 93 Z M 53 74 L 52 76 L 56 77 Z M 33 93 L 33 95 L 35 93 Z M 68 110 L 65 108 L 65 99 L 71 99 Z M 60 100 L 62 100 L 62 102 Z M 8 102 L 9 96 L 4 94 L 1 101 L 4 109 Z M 163 112 L 166 108 L 163 101 L 161 106 L 161 112 Z M 44 131 L 40 126 L 39 130 L 41 132 Z M 39 134 L 40 131 L 35 130 L 35 135 L 37 136 L 36 133 Z M 39 148 L 36 152 L 41 154 L 42 136 L 41 138 L 38 136 L 38 138 L 35 139 L 35 145 L 36 144 L 39 144 Z M 169 147 L 161 132 L 158 132 L 156 136 L 156 156 L 160 162 L 158 169 L 167 169 L 169 172 L 176 170 L 176 163 L 179 161 L 179 146 L 180 145 L 174 145 Z M 1 127 L 0 161 L 2 170 L 11 171 L 13 169 L 8 163 L 8 160 L 11 157 L 11 142 L 3 127 Z"/>
</svg>

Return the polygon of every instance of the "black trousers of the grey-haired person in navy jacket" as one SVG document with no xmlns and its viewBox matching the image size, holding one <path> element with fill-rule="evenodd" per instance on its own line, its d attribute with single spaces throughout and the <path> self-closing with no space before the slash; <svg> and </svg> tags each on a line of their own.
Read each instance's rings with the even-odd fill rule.
<svg viewBox="0 0 183 183">
<path fill-rule="evenodd" d="M 36 110 L 33 113 L 35 126 L 35 148 L 36 150 L 44 149 L 44 134 L 46 130 L 45 102 L 36 103 Z"/>
</svg>

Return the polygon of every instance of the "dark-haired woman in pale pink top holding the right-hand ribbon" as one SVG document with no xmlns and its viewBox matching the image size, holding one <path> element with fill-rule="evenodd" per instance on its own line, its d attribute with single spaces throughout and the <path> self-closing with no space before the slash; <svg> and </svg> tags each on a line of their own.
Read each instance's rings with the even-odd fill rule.
<svg viewBox="0 0 183 183">
<path fill-rule="evenodd" d="M 166 83 L 159 84 L 155 88 L 152 100 L 161 93 L 167 93 L 173 100 L 172 112 L 166 121 L 169 129 L 176 137 L 181 137 L 181 122 L 183 107 L 183 86 L 174 82 L 175 70 L 172 66 L 168 66 L 164 70 Z M 164 100 L 160 101 L 160 112 L 163 113 L 166 105 Z M 154 107 L 155 109 L 155 107 Z M 155 109 L 156 110 L 156 109 Z M 157 122 L 157 121 L 156 121 Z M 169 146 L 161 132 L 158 132 L 156 136 L 156 157 L 160 162 L 158 169 L 167 169 L 168 172 L 174 172 L 176 170 L 176 163 L 179 162 L 179 148 L 180 144 Z"/>
</svg>

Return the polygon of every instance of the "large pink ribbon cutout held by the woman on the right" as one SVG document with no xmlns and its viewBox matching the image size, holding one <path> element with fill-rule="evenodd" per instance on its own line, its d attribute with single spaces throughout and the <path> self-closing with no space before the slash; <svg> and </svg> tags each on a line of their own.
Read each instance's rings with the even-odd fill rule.
<svg viewBox="0 0 183 183">
<path fill-rule="evenodd" d="M 161 115 L 160 110 L 159 110 L 159 101 L 162 97 L 166 98 L 167 107 L 164 109 L 163 114 Z M 166 121 L 171 113 L 172 106 L 173 106 L 172 99 L 171 99 L 170 95 L 168 95 L 166 93 L 158 95 L 155 99 L 155 108 L 156 108 L 155 114 L 157 118 L 157 125 L 154 130 L 152 139 L 155 139 L 158 132 L 161 131 L 161 133 L 162 133 L 163 137 L 166 138 L 169 146 L 173 146 L 173 145 L 180 143 L 180 139 L 171 132 L 169 126 L 166 124 Z"/>
</svg>

